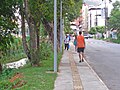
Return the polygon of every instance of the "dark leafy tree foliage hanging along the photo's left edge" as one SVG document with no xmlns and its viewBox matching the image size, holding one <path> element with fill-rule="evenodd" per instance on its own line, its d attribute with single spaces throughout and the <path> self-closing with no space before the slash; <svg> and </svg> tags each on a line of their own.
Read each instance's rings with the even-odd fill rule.
<svg viewBox="0 0 120 90">
<path fill-rule="evenodd" d="M 0 58 L 9 49 L 13 38 L 11 33 L 17 27 L 15 12 L 17 10 L 15 0 L 0 1 Z M 0 72 L 2 70 L 0 63 Z"/>
</svg>

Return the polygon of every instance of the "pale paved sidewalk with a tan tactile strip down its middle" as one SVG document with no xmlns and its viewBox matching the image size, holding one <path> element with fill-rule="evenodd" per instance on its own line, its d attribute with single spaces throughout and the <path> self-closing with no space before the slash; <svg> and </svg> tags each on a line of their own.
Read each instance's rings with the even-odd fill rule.
<svg viewBox="0 0 120 90">
<path fill-rule="evenodd" d="M 72 43 L 70 46 L 61 59 L 54 90 L 109 90 L 86 60 L 79 63 Z"/>
</svg>

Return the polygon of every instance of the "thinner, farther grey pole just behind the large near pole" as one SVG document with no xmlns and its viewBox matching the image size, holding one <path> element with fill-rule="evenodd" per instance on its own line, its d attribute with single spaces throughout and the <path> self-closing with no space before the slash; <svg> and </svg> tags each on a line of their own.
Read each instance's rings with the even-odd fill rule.
<svg viewBox="0 0 120 90">
<path fill-rule="evenodd" d="M 60 52 L 62 52 L 63 28 L 62 28 L 62 0 L 60 0 Z"/>
</svg>

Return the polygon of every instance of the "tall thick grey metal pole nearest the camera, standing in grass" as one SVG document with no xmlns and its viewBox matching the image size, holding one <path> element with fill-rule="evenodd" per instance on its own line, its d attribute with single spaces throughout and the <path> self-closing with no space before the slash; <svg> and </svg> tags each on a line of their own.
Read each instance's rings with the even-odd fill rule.
<svg viewBox="0 0 120 90">
<path fill-rule="evenodd" d="M 54 0 L 54 72 L 57 72 L 57 0 Z"/>
</svg>

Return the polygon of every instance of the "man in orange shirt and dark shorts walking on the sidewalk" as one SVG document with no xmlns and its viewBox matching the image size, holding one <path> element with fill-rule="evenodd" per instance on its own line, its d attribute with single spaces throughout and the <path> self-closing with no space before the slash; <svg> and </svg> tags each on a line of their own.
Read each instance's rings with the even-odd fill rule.
<svg viewBox="0 0 120 90">
<path fill-rule="evenodd" d="M 79 31 L 79 35 L 77 36 L 77 52 L 79 53 L 79 62 L 83 62 L 84 60 L 84 49 L 85 49 L 85 39 L 82 36 L 82 32 Z"/>
</svg>

